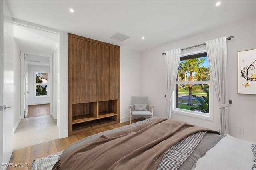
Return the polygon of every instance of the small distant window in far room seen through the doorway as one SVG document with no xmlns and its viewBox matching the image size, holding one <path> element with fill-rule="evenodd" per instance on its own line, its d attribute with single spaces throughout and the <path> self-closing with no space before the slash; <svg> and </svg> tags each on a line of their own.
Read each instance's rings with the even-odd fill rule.
<svg viewBox="0 0 256 170">
<path fill-rule="evenodd" d="M 48 97 L 48 72 L 35 71 L 35 97 Z"/>
</svg>

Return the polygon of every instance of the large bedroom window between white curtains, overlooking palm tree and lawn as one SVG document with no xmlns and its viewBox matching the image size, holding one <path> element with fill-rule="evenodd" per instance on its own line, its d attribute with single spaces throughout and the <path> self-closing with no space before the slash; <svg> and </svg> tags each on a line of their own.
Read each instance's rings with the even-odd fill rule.
<svg viewBox="0 0 256 170">
<path fill-rule="evenodd" d="M 172 112 L 212 120 L 211 91 L 206 52 L 180 57 Z"/>
</svg>

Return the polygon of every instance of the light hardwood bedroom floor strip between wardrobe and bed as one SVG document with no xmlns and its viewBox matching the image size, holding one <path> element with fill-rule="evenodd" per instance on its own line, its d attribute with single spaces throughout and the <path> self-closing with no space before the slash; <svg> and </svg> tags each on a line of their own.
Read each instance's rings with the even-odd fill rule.
<svg viewBox="0 0 256 170">
<path fill-rule="evenodd" d="M 142 120 L 144 120 L 144 118 L 134 119 L 134 120 L 132 120 L 132 123 L 142 121 Z M 60 151 L 64 150 L 66 147 L 68 147 L 70 144 L 72 144 L 78 140 L 81 140 L 82 138 L 85 138 L 87 136 L 90 136 L 92 134 L 97 134 L 100 132 L 104 132 L 106 130 L 112 130 L 114 128 L 122 127 L 122 126 L 129 125 L 129 124 L 130 124 L 130 121 L 118 123 L 115 125 L 110 125 L 110 126 L 98 128 L 95 130 L 90 130 L 88 132 L 84 132 L 81 134 L 69 136 L 67 138 L 51 140 L 51 141 L 37 144 L 34 146 L 29 146 L 26 148 L 14 150 L 12 153 L 12 157 L 10 159 L 10 163 L 13 163 L 13 164 L 27 163 L 28 167 L 25 167 L 25 168 L 9 167 L 9 168 L 7 168 L 7 170 L 30 170 L 32 160 L 42 158 L 44 156 L 54 154 L 56 152 L 60 152 Z"/>
</svg>

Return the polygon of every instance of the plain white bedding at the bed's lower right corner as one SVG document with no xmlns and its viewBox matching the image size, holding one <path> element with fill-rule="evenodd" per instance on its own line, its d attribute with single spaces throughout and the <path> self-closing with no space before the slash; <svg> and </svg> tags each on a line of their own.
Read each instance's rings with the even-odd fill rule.
<svg viewBox="0 0 256 170">
<path fill-rule="evenodd" d="M 251 170 L 254 164 L 251 146 L 227 135 L 198 159 L 194 170 Z"/>
</svg>

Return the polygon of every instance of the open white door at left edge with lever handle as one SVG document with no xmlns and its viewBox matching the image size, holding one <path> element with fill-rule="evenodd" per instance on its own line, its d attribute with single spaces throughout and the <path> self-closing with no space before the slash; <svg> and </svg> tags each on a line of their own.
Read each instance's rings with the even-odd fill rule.
<svg viewBox="0 0 256 170">
<path fill-rule="evenodd" d="M 6 169 L 13 149 L 13 26 L 6 2 L 0 2 L 4 15 L 0 28 L 0 169 Z"/>
</svg>

